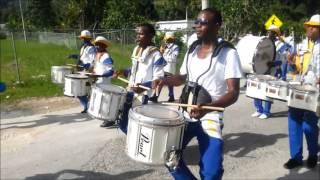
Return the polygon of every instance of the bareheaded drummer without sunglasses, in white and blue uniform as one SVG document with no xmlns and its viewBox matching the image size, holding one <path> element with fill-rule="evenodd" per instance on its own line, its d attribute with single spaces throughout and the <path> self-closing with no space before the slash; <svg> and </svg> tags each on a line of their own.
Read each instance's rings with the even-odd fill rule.
<svg viewBox="0 0 320 180">
<path fill-rule="evenodd" d="M 144 93 L 142 104 L 147 104 L 149 97 L 152 95 L 151 90 L 144 90 L 138 85 L 143 85 L 151 88 L 153 82 L 164 76 L 163 67 L 166 61 L 162 57 L 159 49 L 154 46 L 152 39 L 155 36 L 155 29 L 151 24 L 143 23 L 137 27 L 137 46 L 134 48 L 131 59 L 132 67 L 130 73 L 120 70 L 115 76 L 121 74 L 130 74 L 129 92 L 127 93 L 126 102 L 123 107 L 123 112 L 120 117 L 119 127 L 127 133 L 128 113 L 132 107 L 134 93 Z"/>
</svg>

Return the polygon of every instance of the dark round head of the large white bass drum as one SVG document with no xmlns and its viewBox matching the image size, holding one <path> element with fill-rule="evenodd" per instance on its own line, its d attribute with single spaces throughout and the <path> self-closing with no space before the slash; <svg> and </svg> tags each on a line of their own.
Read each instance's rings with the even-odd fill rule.
<svg viewBox="0 0 320 180">
<path fill-rule="evenodd" d="M 274 42 L 267 37 L 261 39 L 253 56 L 253 71 L 256 74 L 269 74 L 272 68 L 267 64 L 274 61 L 275 55 Z"/>
</svg>

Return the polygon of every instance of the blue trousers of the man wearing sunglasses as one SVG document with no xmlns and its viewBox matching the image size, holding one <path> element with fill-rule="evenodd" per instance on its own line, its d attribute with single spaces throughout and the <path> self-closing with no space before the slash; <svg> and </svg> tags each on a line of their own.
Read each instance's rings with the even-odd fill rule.
<svg viewBox="0 0 320 180">
<path fill-rule="evenodd" d="M 184 132 L 182 149 L 185 149 L 193 137 L 197 137 L 200 151 L 200 177 L 203 180 L 219 180 L 223 174 L 223 141 L 210 137 L 204 132 L 201 122 L 190 122 Z M 175 180 L 196 179 L 183 159 L 175 171 L 170 172 Z"/>
</svg>

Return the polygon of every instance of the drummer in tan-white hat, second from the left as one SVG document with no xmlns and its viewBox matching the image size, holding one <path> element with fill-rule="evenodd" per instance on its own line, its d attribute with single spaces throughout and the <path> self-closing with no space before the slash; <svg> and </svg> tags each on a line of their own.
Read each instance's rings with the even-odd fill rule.
<svg viewBox="0 0 320 180">
<path fill-rule="evenodd" d="M 94 59 L 93 74 L 90 77 L 97 78 L 95 83 L 110 84 L 113 75 L 113 60 L 109 55 L 107 48 L 111 43 L 105 37 L 98 36 L 95 41 L 96 55 Z M 101 127 L 114 125 L 113 121 L 103 121 Z"/>
</svg>

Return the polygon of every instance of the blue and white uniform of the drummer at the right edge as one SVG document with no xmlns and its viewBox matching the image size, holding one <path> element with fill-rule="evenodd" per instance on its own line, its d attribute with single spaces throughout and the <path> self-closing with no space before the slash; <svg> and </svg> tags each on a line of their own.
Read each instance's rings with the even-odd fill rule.
<svg viewBox="0 0 320 180">
<path fill-rule="evenodd" d="M 303 77 L 304 84 L 316 85 L 320 78 L 320 39 L 316 40 L 309 60 L 309 68 Z M 297 162 L 302 162 L 303 133 L 307 140 L 309 157 L 316 157 L 318 153 L 319 117 L 316 113 L 289 107 L 288 127 L 290 157 Z"/>
</svg>

